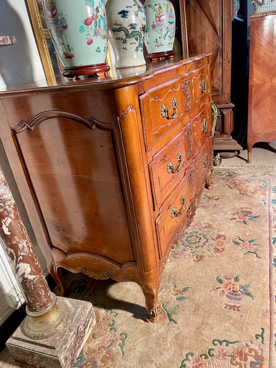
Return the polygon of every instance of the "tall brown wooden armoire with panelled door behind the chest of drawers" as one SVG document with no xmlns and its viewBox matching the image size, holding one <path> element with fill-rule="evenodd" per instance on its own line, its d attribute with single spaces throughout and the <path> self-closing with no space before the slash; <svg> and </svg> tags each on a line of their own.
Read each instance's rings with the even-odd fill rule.
<svg viewBox="0 0 276 368">
<path fill-rule="evenodd" d="M 218 105 L 214 148 L 242 149 L 231 137 L 234 130 L 231 91 L 233 0 L 180 0 L 183 49 L 188 55 L 213 51 L 212 100 Z"/>
</svg>

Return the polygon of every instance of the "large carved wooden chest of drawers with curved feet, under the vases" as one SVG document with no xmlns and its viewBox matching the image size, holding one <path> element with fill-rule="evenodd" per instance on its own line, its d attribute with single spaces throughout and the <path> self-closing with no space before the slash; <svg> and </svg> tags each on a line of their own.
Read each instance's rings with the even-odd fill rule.
<svg viewBox="0 0 276 368">
<path fill-rule="evenodd" d="M 61 294 L 61 268 L 133 281 L 158 320 L 171 247 L 211 186 L 210 54 L 0 92 L 0 136 Z"/>
</svg>

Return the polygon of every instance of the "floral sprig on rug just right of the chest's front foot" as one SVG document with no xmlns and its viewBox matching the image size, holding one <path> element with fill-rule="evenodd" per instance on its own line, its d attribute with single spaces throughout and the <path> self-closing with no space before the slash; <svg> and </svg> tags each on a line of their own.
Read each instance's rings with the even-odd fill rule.
<svg viewBox="0 0 276 368">
<path fill-rule="evenodd" d="M 168 318 L 169 322 L 177 324 L 176 316 L 179 314 L 181 304 L 184 300 L 187 300 L 187 291 L 191 289 L 190 286 L 179 287 L 176 283 L 172 283 L 172 289 L 167 285 L 161 285 L 159 288 L 159 313 L 160 321 L 164 318 Z"/>
</svg>

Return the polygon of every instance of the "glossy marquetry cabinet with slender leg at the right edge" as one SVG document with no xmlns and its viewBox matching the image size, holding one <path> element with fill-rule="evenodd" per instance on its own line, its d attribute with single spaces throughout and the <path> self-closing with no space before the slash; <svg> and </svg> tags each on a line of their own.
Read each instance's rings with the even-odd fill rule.
<svg viewBox="0 0 276 368">
<path fill-rule="evenodd" d="M 248 163 L 252 146 L 276 140 L 276 11 L 250 15 Z"/>
</svg>

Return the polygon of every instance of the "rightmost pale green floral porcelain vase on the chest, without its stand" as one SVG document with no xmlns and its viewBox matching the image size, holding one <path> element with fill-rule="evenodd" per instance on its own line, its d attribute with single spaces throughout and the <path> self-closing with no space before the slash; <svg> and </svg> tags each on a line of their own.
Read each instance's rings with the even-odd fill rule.
<svg viewBox="0 0 276 368">
<path fill-rule="evenodd" d="M 145 45 L 149 54 L 171 52 L 176 33 L 176 15 L 168 0 L 146 0 Z"/>
</svg>

